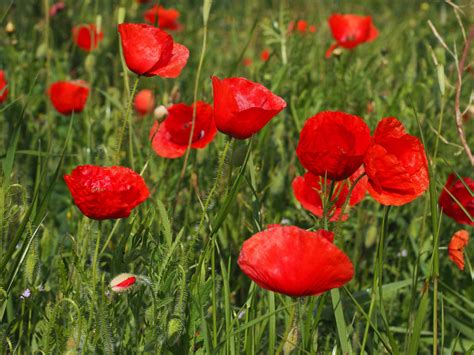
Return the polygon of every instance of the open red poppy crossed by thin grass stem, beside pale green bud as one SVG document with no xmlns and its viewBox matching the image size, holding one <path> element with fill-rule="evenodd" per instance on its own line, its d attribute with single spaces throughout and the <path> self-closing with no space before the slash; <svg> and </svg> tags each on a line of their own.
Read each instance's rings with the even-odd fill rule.
<svg viewBox="0 0 474 355">
<path fill-rule="evenodd" d="M 150 138 L 156 154 L 163 158 L 179 158 L 189 143 L 194 105 L 175 104 L 168 108 L 168 117 L 160 124 L 155 122 Z M 191 148 L 204 148 L 217 133 L 212 106 L 198 101 Z"/>
</svg>

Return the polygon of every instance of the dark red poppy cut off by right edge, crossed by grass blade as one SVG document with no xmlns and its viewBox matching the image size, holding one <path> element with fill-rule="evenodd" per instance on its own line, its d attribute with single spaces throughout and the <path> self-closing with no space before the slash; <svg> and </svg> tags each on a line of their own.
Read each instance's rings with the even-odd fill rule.
<svg viewBox="0 0 474 355">
<path fill-rule="evenodd" d="M 474 180 L 468 177 L 463 177 L 464 183 L 469 186 L 469 189 L 474 191 Z M 448 192 L 449 191 L 449 192 Z M 455 174 L 450 174 L 443 191 L 439 196 L 438 204 L 443 209 L 443 213 L 461 224 L 468 224 L 474 226 L 474 196 L 471 194 L 466 186 Z M 470 216 L 461 209 L 458 202 L 451 197 L 451 195 L 464 207 Z"/>
</svg>

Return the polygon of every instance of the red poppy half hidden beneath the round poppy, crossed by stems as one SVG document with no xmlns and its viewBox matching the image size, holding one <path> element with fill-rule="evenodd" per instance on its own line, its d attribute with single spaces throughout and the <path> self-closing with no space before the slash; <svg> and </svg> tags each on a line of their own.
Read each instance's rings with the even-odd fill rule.
<svg viewBox="0 0 474 355">
<path fill-rule="evenodd" d="M 364 173 L 364 168 L 360 167 L 354 174 L 349 177 L 349 184 L 353 184 L 357 178 Z M 304 209 L 310 211 L 317 217 L 323 217 L 323 203 L 321 197 L 323 196 L 324 178 L 307 172 L 303 176 L 297 176 L 292 183 L 293 193 L 296 199 L 301 203 Z M 331 181 L 326 182 L 326 191 L 329 192 Z M 334 193 L 331 197 L 332 208 L 328 211 L 331 222 L 335 222 L 341 215 L 342 206 L 346 201 L 349 193 L 350 185 L 347 182 L 338 181 L 334 186 Z M 355 206 L 364 199 L 367 191 L 367 177 L 362 177 L 352 190 L 348 206 Z M 348 209 L 341 217 L 342 221 L 349 217 Z"/>
</svg>

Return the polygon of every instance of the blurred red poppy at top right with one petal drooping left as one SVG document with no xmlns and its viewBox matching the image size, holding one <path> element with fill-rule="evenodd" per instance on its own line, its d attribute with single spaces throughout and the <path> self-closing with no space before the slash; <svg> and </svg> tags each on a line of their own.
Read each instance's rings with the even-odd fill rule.
<svg viewBox="0 0 474 355">
<path fill-rule="evenodd" d="M 373 41 L 379 34 L 370 16 L 334 14 L 328 23 L 336 43 L 329 47 L 326 58 L 337 47 L 352 49 L 361 43 Z"/>
</svg>

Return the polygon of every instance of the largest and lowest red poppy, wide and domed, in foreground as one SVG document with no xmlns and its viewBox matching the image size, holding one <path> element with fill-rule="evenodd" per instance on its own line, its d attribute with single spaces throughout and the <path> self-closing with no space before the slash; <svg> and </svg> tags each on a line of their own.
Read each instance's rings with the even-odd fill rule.
<svg viewBox="0 0 474 355">
<path fill-rule="evenodd" d="M 260 287 L 288 296 L 318 295 L 346 284 L 351 261 L 332 242 L 334 233 L 274 227 L 247 239 L 239 266 Z"/>
</svg>

